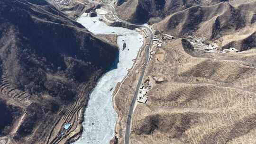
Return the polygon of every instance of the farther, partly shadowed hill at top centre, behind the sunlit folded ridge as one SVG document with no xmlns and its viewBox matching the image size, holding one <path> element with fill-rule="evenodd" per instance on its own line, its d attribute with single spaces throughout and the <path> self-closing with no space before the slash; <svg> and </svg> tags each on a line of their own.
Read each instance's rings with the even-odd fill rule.
<svg viewBox="0 0 256 144">
<path fill-rule="evenodd" d="M 223 0 L 118 0 L 118 14 L 134 23 L 159 22 L 161 19 L 192 6 L 214 5 Z"/>
</svg>

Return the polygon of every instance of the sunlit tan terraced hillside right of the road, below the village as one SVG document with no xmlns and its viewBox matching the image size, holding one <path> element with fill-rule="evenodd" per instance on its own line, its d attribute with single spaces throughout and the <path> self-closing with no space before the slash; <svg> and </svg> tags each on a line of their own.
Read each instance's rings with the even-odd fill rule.
<svg viewBox="0 0 256 144">
<path fill-rule="evenodd" d="M 131 144 L 255 144 L 256 50 L 200 54 L 184 39 L 150 63 L 148 102 L 133 115 Z"/>
</svg>

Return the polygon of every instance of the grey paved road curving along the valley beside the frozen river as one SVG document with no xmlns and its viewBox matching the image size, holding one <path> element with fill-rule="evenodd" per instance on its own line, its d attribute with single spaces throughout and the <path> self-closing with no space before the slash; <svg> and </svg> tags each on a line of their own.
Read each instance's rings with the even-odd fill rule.
<svg viewBox="0 0 256 144">
<path fill-rule="evenodd" d="M 145 25 L 137 25 L 137 24 L 132 24 L 132 23 L 129 23 L 127 21 L 124 21 L 120 18 L 118 18 L 117 16 L 117 13 L 115 11 L 115 8 L 108 4 L 108 6 L 111 7 L 112 9 L 112 12 L 115 16 L 115 18 L 117 18 L 119 21 L 125 23 L 125 24 L 128 24 L 128 25 L 132 25 L 132 26 L 137 26 L 137 27 L 144 27 L 148 30 L 148 38 L 149 38 L 149 44 L 146 45 L 146 59 L 145 59 L 145 64 L 144 64 L 144 67 L 142 69 L 142 72 L 141 72 L 141 76 L 138 80 L 138 83 L 137 83 L 137 87 L 136 87 L 136 91 L 134 93 L 134 96 L 133 96 L 133 99 L 132 99 L 132 102 L 130 104 L 130 107 L 129 107 L 129 112 L 128 112 L 128 116 L 127 116 L 127 122 L 126 122 L 126 130 L 125 130 L 125 144 L 129 144 L 129 136 L 130 136 L 130 131 L 131 131 L 131 119 L 132 119 L 132 115 L 133 115 L 133 111 L 134 111 L 134 107 L 135 107 L 135 103 L 137 101 L 137 95 L 138 95 L 138 91 L 139 91 L 139 88 L 140 88 L 140 85 L 142 83 L 142 80 L 144 78 L 144 74 L 145 74 L 145 70 L 146 70 L 146 66 L 147 66 L 147 63 L 148 63 L 148 59 L 149 59 L 149 55 L 150 55 L 150 47 L 152 46 L 152 43 L 153 43 L 153 37 L 154 37 L 154 34 L 153 34 L 153 31 L 150 27 L 147 27 Z"/>
</svg>

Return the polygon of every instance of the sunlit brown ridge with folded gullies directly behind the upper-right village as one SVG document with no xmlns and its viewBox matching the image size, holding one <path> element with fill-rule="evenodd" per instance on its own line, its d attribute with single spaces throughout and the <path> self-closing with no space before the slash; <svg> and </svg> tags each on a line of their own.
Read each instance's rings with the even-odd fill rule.
<svg viewBox="0 0 256 144">
<path fill-rule="evenodd" d="M 233 7 L 229 2 L 214 6 L 194 6 L 174 13 L 154 25 L 155 29 L 174 36 L 197 35 L 217 39 L 222 48 L 246 50 L 256 47 L 255 2 Z"/>
</svg>

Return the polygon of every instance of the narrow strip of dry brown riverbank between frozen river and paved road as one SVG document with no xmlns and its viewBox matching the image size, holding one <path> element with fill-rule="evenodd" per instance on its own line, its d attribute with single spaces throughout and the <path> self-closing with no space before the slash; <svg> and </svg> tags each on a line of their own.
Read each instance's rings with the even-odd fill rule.
<svg viewBox="0 0 256 144">
<path fill-rule="evenodd" d="M 148 39 L 144 39 L 143 48 L 140 49 L 136 59 L 134 59 L 135 63 L 133 67 L 129 70 L 129 73 L 123 79 L 123 81 L 119 83 L 115 90 L 115 95 L 113 96 L 113 106 L 115 111 L 118 113 L 118 120 L 115 126 L 115 133 L 119 138 L 118 144 L 124 144 L 124 134 L 129 106 L 135 93 L 137 81 L 141 76 L 142 67 L 146 59 L 145 47 L 147 43 Z M 123 99 L 123 95 L 126 95 L 125 99 Z"/>
</svg>

